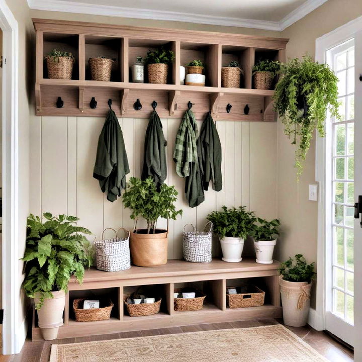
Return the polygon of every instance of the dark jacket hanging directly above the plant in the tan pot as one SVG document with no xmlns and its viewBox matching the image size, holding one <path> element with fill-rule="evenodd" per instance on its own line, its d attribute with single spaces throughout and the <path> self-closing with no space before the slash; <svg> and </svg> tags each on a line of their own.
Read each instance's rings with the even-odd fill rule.
<svg viewBox="0 0 362 362">
<path fill-rule="evenodd" d="M 165 147 L 167 141 L 162 131 L 162 123 L 156 111 L 153 111 L 148 123 L 144 145 L 142 180 L 152 176 L 157 188 L 167 177 Z"/>
</svg>

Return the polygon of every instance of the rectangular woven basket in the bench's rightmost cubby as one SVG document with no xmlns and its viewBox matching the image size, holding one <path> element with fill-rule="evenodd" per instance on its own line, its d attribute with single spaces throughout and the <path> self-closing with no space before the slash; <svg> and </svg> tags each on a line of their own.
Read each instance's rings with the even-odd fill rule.
<svg viewBox="0 0 362 362">
<path fill-rule="evenodd" d="M 226 293 L 226 302 L 230 308 L 260 307 L 264 305 L 265 292 L 255 286 L 228 287 L 241 288 L 241 293 Z"/>
</svg>

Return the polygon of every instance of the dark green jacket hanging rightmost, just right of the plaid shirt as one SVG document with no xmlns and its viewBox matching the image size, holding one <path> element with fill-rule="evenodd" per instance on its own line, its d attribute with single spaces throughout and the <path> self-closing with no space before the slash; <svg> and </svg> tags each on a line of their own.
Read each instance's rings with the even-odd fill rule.
<svg viewBox="0 0 362 362">
<path fill-rule="evenodd" d="M 208 113 L 200 130 L 201 173 L 204 190 L 208 190 L 210 180 L 215 191 L 222 189 L 221 143 L 214 120 Z"/>
</svg>

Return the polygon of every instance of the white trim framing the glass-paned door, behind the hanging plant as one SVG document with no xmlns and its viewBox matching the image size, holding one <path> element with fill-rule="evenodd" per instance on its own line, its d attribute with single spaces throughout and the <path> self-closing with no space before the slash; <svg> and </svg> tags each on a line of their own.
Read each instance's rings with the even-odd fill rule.
<svg viewBox="0 0 362 362">
<path fill-rule="evenodd" d="M 316 39 L 316 61 L 319 63 L 326 62 L 326 51 L 353 38 L 356 33 L 362 30 L 362 17 L 356 18 L 349 23 L 331 31 L 328 34 Z M 326 189 L 329 187 L 326 183 L 326 154 L 327 140 L 326 138 L 316 138 L 316 180 L 320 185 L 319 201 L 318 201 L 318 241 L 317 241 L 317 290 L 316 290 L 316 313 L 315 326 L 318 330 L 325 329 L 325 285 L 326 280 L 326 210 L 325 203 Z M 330 172 L 329 172 L 330 173 Z M 331 195 L 329 193 L 329 195 Z"/>
</svg>

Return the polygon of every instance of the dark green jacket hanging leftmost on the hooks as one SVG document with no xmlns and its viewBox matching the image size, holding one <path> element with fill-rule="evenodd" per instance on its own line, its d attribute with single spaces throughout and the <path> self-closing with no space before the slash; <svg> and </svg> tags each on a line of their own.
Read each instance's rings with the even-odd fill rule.
<svg viewBox="0 0 362 362">
<path fill-rule="evenodd" d="M 102 192 L 107 192 L 107 200 L 113 202 L 126 188 L 127 173 L 129 166 L 122 130 L 115 113 L 110 111 L 98 139 L 93 177 L 99 180 Z"/>
</svg>

